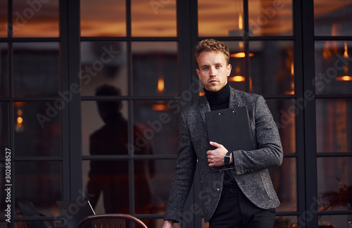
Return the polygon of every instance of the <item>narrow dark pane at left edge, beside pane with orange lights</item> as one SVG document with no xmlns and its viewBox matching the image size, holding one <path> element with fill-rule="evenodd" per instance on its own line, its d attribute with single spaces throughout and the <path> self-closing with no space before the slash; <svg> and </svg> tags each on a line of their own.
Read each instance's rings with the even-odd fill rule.
<svg viewBox="0 0 352 228">
<path fill-rule="evenodd" d="M 9 148 L 10 141 L 8 139 L 10 132 L 9 132 L 9 125 L 8 125 L 8 103 L 7 102 L 0 102 L 0 147 L 3 148 L 0 151 L 0 157 L 5 157 L 6 148 Z M 9 148 L 11 150 L 11 148 Z M 1 172 L 4 173 L 4 172 Z"/>
</svg>

